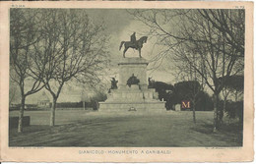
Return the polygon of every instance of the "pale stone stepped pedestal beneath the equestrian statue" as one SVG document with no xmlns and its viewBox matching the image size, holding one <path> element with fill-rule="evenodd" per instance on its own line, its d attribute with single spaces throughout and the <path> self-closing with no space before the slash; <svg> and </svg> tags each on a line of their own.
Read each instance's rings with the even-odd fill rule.
<svg viewBox="0 0 256 164">
<path fill-rule="evenodd" d="M 111 89 L 105 102 L 99 102 L 99 111 L 165 111 L 165 102 L 159 100 L 154 88 L 148 88 L 147 66 L 144 58 L 123 58 L 118 63 L 118 88 Z M 139 84 L 127 85 L 134 75 Z"/>
</svg>

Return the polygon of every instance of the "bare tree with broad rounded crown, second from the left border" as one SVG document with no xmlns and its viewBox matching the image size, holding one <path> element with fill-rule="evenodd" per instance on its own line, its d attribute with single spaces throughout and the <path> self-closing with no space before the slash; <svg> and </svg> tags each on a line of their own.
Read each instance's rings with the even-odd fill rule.
<svg viewBox="0 0 256 164">
<path fill-rule="evenodd" d="M 42 39 L 34 45 L 36 58 L 46 61 L 42 82 L 52 95 L 50 126 L 55 125 L 57 99 L 66 82 L 96 84 L 107 60 L 107 37 L 83 10 L 41 10 Z"/>
</svg>

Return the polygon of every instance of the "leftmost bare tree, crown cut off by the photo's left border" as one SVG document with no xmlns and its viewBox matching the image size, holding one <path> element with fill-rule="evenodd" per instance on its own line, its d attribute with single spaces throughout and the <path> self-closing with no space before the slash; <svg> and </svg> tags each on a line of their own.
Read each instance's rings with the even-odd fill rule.
<svg viewBox="0 0 256 164">
<path fill-rule="evenodd" d="M 43 87 L 40 79 L 44 70 L 33 70 L 32 44 L 38 41 L 37 12 L 30 9 L 11 9 L 10 12 L 10 78 L 21 91 L 18 132 L 23 132 L 26 97 Z"/>
</svg>

